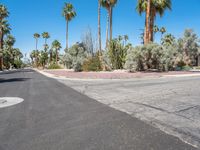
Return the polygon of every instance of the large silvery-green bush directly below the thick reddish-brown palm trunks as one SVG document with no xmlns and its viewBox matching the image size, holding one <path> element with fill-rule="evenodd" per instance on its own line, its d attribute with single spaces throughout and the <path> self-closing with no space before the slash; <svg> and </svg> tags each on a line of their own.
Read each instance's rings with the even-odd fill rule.
<svg viewBox="0 0 200 150">
<path fill-rule="evenodd" d="M 151 43 L 129 49 L 125 67 L 129 71 L 175 70 L 181 62 L 178 58 L 176 45 L 162 46 Z"/>
</svg>

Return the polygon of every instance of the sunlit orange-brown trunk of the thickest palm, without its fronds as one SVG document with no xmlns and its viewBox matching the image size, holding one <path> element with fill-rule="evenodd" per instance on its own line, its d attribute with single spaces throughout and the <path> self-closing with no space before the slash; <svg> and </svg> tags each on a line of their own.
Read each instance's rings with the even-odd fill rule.
<svg viewBox="0 0 200 150">
<path fill-rule="evenodd" d="M 145 43 L 144 44 L 148 44 L 149 43 L 149 18 L 150 18 L 150 14 L 151 14 L 151 0 L 148 0 L 148 4 L 147 4 L 147 10 L 146 10 L 146 25 L 145 25 Z"/>
</svg>

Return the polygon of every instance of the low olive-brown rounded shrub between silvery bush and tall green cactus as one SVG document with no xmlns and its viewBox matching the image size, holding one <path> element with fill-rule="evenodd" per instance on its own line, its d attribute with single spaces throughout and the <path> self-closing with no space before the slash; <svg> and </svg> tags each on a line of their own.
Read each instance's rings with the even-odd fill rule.
<svg viewBox="0 0 200 150">
<path fill-rule="evenodd" d="M 99 56 L 96 55 L 84 61 L 82 69 L 83 71 L 101 71 L 102 66 Z"/>
</svg>

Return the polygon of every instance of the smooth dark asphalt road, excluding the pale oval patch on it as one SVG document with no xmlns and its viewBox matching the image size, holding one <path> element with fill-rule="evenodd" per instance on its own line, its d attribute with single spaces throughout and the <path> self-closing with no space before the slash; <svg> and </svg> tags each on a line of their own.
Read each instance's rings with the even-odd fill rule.
<svg viewBox="0 0 200 150">
<path fill-rule="evenodd" d="M 32 70 L 0 74 L 0 150 L 193 150 L 144 122 Z"/>
</svg>

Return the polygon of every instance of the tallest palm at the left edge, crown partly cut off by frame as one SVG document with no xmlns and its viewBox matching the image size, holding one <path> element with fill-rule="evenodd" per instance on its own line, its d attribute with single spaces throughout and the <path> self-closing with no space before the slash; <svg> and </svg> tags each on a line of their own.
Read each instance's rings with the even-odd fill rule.
<svg viewBox="0 0 200 150">
<path fill-rule="evenodd" d="M 3 27 L 2 21 L 9 16 L 6 6 L 0 4 L 0 70 L 3 69 Z"/>
</svg>

